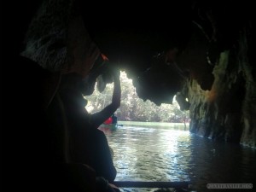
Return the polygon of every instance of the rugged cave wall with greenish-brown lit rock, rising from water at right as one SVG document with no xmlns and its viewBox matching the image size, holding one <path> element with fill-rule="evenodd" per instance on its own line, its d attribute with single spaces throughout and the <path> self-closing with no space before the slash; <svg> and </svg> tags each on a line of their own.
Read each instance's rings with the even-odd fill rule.
<svg viewBox="0 0 256 192">
<path fill-rule="evenodd" d="M 220 53 L 210 90 L 202 90 L 197 80 L 188 79 L 183 94 L 190 103 L 189 131 L 256 147 L 256 84 L 255 67 L 249 59 L 250 40 L 244 29 L 236 47 Z"/>
</svg>

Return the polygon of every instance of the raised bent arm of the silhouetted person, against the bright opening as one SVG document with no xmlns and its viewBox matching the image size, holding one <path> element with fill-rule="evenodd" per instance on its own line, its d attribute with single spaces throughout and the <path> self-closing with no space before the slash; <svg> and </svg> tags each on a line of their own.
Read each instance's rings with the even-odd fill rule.
<svg viewBox="0 0 256 192">
<path fill-rule="evenodd" d="M 113 96 L 112 103 L 101 112 L 93 113 L 90 116 L 90 124 L 98 128 L 102 123 L 108 119 L 119 108 L 121 102 L 121 87 L 119 80 L 120 72 L 113 72 Z"/>
</svg>

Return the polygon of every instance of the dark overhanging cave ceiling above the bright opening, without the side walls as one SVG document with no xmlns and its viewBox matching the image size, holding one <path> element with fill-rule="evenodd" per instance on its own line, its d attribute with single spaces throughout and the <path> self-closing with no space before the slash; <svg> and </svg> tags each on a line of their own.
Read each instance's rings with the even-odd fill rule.
<svg viewBox="0 0 256 192">
<path fill-rule="evenodd" d="M 188 79 L 211 90 L 220 52 L 234 46 L 249 18 L 245 4 L 179 1 L 106 11 L 101 27 L 86 25 L 102 53 L 133 79 L 138 96 L 160 105 L 172 103 Z"/>
</svg>

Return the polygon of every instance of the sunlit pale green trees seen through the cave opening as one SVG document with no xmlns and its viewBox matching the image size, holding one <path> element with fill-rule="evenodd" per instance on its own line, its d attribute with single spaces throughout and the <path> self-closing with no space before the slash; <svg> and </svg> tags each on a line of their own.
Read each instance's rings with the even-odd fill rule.
<svg viewBox="0 0 256 192">
<path fill-rule="evenodd" d="M 173 104 L 161 104 L 156 106 L 154 102 L 143 102 L 137 96 L 136 88 L 132 80 L 126 77 L 125 72 L 120 75 L 122 97 L 121 105 L 116 114 L 119 120 L 143 121 L 143 122 L 172 122 L 184 123 L 189 121 L 189 111 L 181 111 L 175 100 Z M 112 100 L 113 84 L 107 84 L 105 90 L 99 92 L 95 89 L 91 96 L 86 96 L 88 104 L 86 109 L 90 113 L 96 113 L 105 108 Z"/>
</svg>

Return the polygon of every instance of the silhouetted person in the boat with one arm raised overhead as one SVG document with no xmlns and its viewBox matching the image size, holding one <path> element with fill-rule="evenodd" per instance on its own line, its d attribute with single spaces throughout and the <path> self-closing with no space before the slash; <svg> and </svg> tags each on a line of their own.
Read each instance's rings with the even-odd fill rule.
<svg viewBox="0 0 256 192">
<path fill-rule="evenodd" d="M 96 81 L 96 73 L 90 73 L 91 82 Z M 88 84 L 88 85 L 89 85 Z M 112 103 L 98 113 L 88 113 L 84 108 L 84 95 L 91 93 L 91 87 L 85 86 L 84 79 L 77 73 L 64 75 L 62 78 L 60 96 L 67 111 L 67 125 L 70 132 L 71 161 L 92 167 L 96 177 L 104 177 L 112 183 L 116 177 L 116 169 L 108 140 L 105 134 L 97 128 L 113 114 L 120 105 L 119 72 L 113 70 Z M 84 87 L 85 86 L 85 87 Z"/>
</svg>

